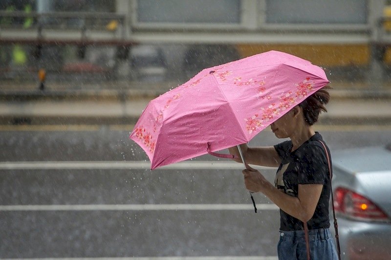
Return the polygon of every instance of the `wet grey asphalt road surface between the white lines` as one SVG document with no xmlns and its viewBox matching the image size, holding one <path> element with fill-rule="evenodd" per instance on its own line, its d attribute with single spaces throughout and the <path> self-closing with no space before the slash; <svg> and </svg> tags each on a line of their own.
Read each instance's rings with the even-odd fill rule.
<svg viewBox="0 0 391 260">
<path fill-rule="evenodd" d="M 83 130 L 0 131 L 0 161 L 147 161 L 128 139 L 129 130 L 110 126 Z M 319 128 L 335 149 L 391 142 L 391 126 Z M 270 131 L 251 145 L 278 142 Z M 192 161 L 213 161 L 201 156 Z M 338 160 L 333 158 L 333 160 Z M 192 162 L 191 161 L 191 162 Z M 42 163 L 44 165 L 44 163 Z M 263 170 L 269 180 L 274 169 Z M 269 201 L 255 195 L 257 214 L 243 187 L 239 169 L 0 169 L 0 258 L 275 256 L 279 213 L 262 208 Z M 94 205 L 130 205 L 126 209 Z M 152 205 L 138 209 L 137 205 Z M 187 205 L 153 209 L 155 204 Z M 192 209 L 192 205 L 215 204 Z M 219 205 L 248 209 L 219 209 Z M 32 208 L 23 206 L 33 205 Z M 48 208 L 34 205 L 69 205 Z M 88 205 L 90 208 L 76 208 Z"/>
</svg>

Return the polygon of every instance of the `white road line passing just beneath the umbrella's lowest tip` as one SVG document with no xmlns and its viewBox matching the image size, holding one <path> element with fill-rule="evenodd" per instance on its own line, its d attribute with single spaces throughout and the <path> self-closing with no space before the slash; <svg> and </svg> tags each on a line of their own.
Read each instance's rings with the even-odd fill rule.
<svg viewBox="0 0 391 260">
<path fill-rule="evenodd" d="M 257 169 L 276 169 L 255 166 Z M 151 169 L 149 161 L 5 161 L 0 162 L 0 170 L 78 170 L 78 169 Z M 242 170 L 243 164 L 233 161 L 183 161 L 160 167 L 161 170 L 183 169 L 234 169 Z M 156 169 L 156 170 L 158 170 Z"/>
</svg>

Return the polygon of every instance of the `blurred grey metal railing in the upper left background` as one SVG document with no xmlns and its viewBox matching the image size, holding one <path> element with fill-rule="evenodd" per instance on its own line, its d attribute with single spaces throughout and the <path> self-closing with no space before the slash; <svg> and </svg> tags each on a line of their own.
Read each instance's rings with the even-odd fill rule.
<svg viewBox="0 0 391 260">
<path fill-rule="evenodd" d="M 0 43 L 129 46 L 126 16 L 97 12 L 0 11 Z"/>
</svg>

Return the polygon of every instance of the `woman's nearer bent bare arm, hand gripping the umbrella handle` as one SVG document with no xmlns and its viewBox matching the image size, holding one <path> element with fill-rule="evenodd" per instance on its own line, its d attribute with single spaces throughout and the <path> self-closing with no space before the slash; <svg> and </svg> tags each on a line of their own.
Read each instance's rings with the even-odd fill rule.
<svg viewBox="0 0 391 260">
<path fill-rule="evenodd" d="M 298 197 L 279 191 L 267 181 L 259 171 L 247 167 L 243 170 L 246 188 L 252 192 L 262 192 L 279 208 L 296 219 L 306 222 L 312 218 L 322 193 L 322 184 L 299 184 Z"/>
</svg>

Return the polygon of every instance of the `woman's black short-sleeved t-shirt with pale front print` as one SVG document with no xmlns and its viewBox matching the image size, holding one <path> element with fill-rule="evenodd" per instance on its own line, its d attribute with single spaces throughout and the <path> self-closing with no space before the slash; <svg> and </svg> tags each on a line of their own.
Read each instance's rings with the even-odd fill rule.
<svg viewBox="0 0 391 260">
<path fill-rule="evenodd" d="M 274 146 L 282 159 L 281 165 L 277 170 L 275 180 L 276 187 L 279 190 L 290 196 L 297 197 L 299 188 L 298 184 L 323 185 L 315 213 L 307 222 L 308 229 L 328 228 L 330 226 L 328 216 L 331 192 L 330 175 L 328 172 L 325 149 L 318 140 L 323 141 L 322 136 L 316 132 L 315 135 L 305 141 L 293 152 L 291 152 L 293 145 L 290 140 Z M 330 156 L 328 147 L 327 152 Z M 292 231 L 303 229 L 304 226 L 301 220 L 288 215 L 280 209 L 280 230 Z"/>
</svg>

